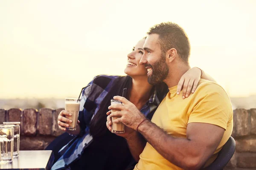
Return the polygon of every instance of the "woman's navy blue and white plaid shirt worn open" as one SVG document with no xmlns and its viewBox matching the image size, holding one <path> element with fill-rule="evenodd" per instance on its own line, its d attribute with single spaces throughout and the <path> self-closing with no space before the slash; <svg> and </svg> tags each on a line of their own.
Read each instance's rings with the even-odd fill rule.
<svg viewBox="0 0 256 170">
<path fill-rule="evenodd" d="M 94 114 L 99 110 L 99 105 L 108 94 L 113 83 L 118 83 L 115 80 L 120 76 L 106 76 L 100 75 L 94 77 L 94 79 L 88 84 L 82 92 L 79 121 L 81 127 L 81 135 L 76 136 L 66 146 L 61 148 L 59 153 L 62 155 L 60 159 L 52 166 L 52 170 L 67 169 L 70 170 L 69 165 L 79 159 L 84 149 L 89 146 L 93 141 L 93 137 L 90 136 L 89 124 Z M 166 89 L 166 93 L 168 89 Z M 153 115 L 157 106 L 163 100 L 166 94 L 159 94 L 155 90 L 150 99 L 143 108 L 140 110 L 145 116 Z M 151 117 L 148 117 L 151 119 Z M 86 160 L 84 160 L 86 161 Z"/>
</svg>

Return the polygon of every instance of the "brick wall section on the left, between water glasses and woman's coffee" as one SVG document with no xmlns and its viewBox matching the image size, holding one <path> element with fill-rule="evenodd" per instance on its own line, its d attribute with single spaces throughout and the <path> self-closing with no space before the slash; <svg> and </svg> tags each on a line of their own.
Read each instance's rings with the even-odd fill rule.
<svg viewBox="0 0 256 170">
<path fill-rule="evenodd" d="M 41 108 L 35 109 L 0 109 L 0 124 L 20 122 L 20 150 L 44 150 L 56 136 L 63 133 L 58 128 L 58 114 L 64 110 Z"/>
</svg>

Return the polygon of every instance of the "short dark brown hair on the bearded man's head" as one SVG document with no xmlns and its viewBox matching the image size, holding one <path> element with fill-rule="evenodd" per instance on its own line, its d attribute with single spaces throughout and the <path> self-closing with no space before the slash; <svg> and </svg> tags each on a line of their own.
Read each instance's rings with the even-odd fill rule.
<svg viewBox="0 0 256 170">
<path fill-rule="evenodd" d="M 169 49 L 175 48 L 181 59 L 187 64 L 189 63 L 189 38 L 179 25 L 172 22 L 160 23 L 149 29 L 148 35 L 150 34 L 159 35 L 158 41 L 162 53 L 166 53 Z"/>
</svg>

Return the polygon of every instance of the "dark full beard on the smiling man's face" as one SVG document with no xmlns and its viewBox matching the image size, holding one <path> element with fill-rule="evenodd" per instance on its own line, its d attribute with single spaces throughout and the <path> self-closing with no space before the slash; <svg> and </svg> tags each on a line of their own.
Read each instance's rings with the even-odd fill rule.
<svg viewBox="0 0 256 170">
<path fill-rule="evenodd" d="M 148 64 L 149 65 L 149 64 Z M 157 83 L 163 82 L 168 76 L 169 67 L 166 64 L 165 54 L 161 54 L 160 59 L 153 65 L 149 65 L 152 68 L 152 73 L 148 76 L 148 83 L 155 85 Z"/>
</svg>

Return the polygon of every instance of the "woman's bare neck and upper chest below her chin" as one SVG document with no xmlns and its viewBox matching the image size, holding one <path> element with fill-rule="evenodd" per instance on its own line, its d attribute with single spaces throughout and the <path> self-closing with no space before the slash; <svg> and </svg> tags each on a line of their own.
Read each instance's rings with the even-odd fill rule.
<svg viewBox="0 0 256 170">
<path fill-rule="evenodd" d="M 153 85 L 148 83 L 148 79 L 132 79 L 131 92 L 129 100 L 134 105 L 143 106 L 151 96 Z"/>
</svg>

